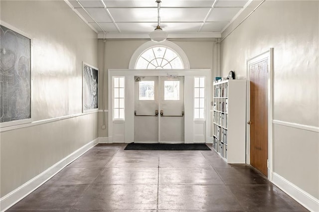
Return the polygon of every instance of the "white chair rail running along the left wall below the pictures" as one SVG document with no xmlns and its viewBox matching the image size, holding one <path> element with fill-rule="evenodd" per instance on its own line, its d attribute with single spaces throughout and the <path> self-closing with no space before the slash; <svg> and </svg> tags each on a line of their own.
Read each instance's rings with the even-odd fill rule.
<svg viewBox="0 0 319 212">
<path fill-rule="evenodd" d="M 59 120 L 68 119 L 68 118 L 74 118 L 74 117 L 77 117 L 77 116 L 88 115 L 88 114 L 96 113 L 96 112 L 98 112 L 98 111 L 92 111 L 92 112 L 86 112 L 86 113 L 77 113 L 77 114 L 73 114 L 73 115 L 65 115 L 65 116 L 60 116 L 60 117 L 56 117 L 56 118 L 49 118 L 49 119 L 44 119 L 44 120 L 39 120 L 39 121 L 33 121 L 31 123 L 25 123 L 25 124 L 19 124 L 19 125 L 14 125 L 14 126 L 2 127 L 2 128 L 0 128 L 0 132 L 10 131 L 10 130 L 20 129 L 20 128 L 25 128 L 25 127 L 30 127 L 30 126 L 36 126 L 36 125 L 40 125 L 40 124 L 46 124 L 46 123 L 50 123 L 50 122 L 54 122 L 54 121 L 59 121 Z"/>
</svg>

